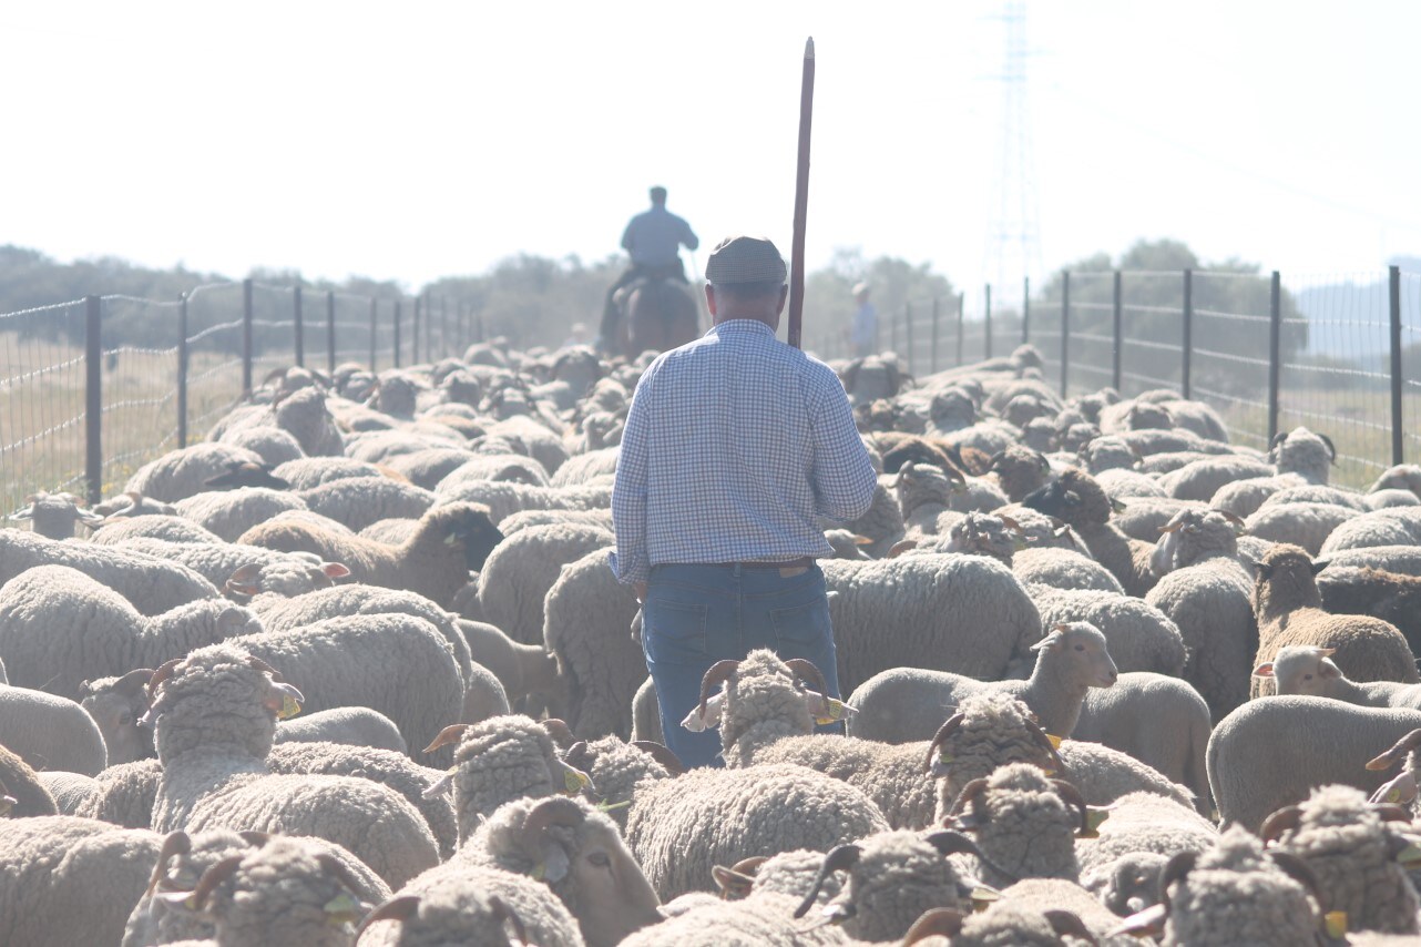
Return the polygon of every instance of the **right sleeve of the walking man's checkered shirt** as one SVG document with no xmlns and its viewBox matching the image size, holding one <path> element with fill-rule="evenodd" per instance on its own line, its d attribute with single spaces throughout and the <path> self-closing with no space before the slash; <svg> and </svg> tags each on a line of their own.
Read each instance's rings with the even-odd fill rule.
<svg viewBox="0 0 1421 947">
<path fill-rule="evenodd" d="M 837 520 L 858 519 L 874 503 L 878 474 L 868 458 L 868 448 L 858 437 L 854 411 L 838 377 L 824 368 L 816 380 L 810 411 L 814 444 L 814 506 L 820 516 Z"/>
</svg>

